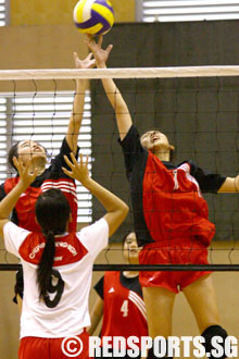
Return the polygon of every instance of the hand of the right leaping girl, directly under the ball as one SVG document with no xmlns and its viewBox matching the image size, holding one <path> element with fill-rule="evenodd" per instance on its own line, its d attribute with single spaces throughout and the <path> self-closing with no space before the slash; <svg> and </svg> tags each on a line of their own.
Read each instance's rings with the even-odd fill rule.
<svg viewBox="0 0 239 359">
<path fill-rule="evenodd" d="M 113 48 L 113 45 L 109 45 L 105 50 L 102 49 L 103 36 L 99 36 L 98 42 L 96 42 L 92 35 L 87 35 L 86 44 L 90 51 L 93 53 L 93 57 L 97 62 L 98 67 L 104 67 L 109 59 L 110 52 Z"/>
</svg>

